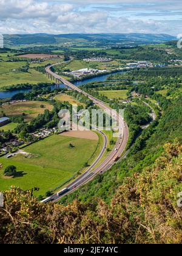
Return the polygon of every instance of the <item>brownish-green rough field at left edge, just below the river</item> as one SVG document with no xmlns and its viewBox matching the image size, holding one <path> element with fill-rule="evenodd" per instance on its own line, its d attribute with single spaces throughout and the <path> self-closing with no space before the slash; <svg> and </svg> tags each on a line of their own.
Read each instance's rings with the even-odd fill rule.
<svg viewBox="0 0 182 256">
<path fill-rule="evenodd" d="M 41 105 L 44 105 L 44 107 L 41 107 Z M 42 101 L 18 102 L 11 105 L 2 105 L 0 108 L 0 116 L 2 117 L 3 114 L 8 117 L 22 116 L 22 113 L 24 113 L 25 121 L 29 122 L 38 114 L 44 113 L 45 109 L 52 110 L 53 106 L 47 102 Z"/>
</svg>

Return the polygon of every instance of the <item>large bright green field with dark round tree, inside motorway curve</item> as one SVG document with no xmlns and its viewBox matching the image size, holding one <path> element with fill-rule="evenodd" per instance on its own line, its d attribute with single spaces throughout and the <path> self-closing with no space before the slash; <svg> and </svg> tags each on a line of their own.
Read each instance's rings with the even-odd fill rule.
<svg viewBox="0 0 182 256">
<path fill-rule="evenodd" d="M 69 148 L 72 143 L 75 148 Z M 16 155 L 12 158 L 0 158 L 3 169 L 0 171 L 1 190 L 8 190 L 12 185 L 30 190 L 39 187 L 35 195 L 44 195 L 46 191 L 59 187 L 80 171 L 96 150 L 98 141 L 53 135 L 38 143 L 24 148 L 32 155 Z M 5 179 L 4 168 L 15 165 L 20 176 Z M 21 173 L 22 172 L 22 173 Z"/>
</svg>

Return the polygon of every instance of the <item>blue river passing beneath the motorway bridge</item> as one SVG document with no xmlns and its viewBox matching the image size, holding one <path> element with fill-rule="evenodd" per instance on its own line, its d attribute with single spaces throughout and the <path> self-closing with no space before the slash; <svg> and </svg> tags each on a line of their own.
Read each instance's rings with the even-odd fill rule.
<svg viewBox="0 0 182 256">
<path fill-rule="evenodd" d="M 116 73 L 123 73 L 123 71 L 119 71 Z M 116 73 L 113 73 L 113 74 L 116 74 Z M 105 82 L 107 80 L 107 77 L 109 77 L 110 75 L 111 74 L 104 74 L 103 76 L 92 77 L 92 78 L 85 79 L 83 81 L 77 81 L 77 82 L 74 82 L 73 84 L 79 87 L 81 85 L 88 84 L 91 82 Z M 52 85 L 52 90 L 55 90 L 55 88 L 56 88 L 56 85 Z M 59 84 L 59 88 L 64 88 L 64 85 Z M 29 93 L 30 91 L 32 91 L 32 89 L 0 91 L 0 99 L 12 98 L 17 93 Z"/>
</svg>

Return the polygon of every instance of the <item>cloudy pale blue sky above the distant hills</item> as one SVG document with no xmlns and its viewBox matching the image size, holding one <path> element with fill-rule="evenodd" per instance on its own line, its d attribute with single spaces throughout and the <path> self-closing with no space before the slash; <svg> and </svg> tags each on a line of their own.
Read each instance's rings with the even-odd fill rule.
<svg viewBox="0 0 182 256">
<path fill-rule="evenodd" d="M 0 34 L 182 33 L 181 0 L 0 0 Z"/>
</svg>

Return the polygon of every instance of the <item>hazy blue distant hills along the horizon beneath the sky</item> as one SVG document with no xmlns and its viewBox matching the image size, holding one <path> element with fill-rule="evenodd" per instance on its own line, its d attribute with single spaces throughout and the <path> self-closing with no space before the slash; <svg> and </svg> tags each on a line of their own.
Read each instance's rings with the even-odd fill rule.
<svg viewBox="0 0 182 256">
<path fill-rule="evenodd" d="M 98 43 L 163 43 L 176 40 L 175 37 L 166 34 L 26 34 L 4 35 L 5 46 L 19 44 L 56 44 L 66 42 L 98 42 Z"/>
</svg>

